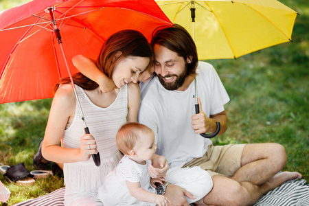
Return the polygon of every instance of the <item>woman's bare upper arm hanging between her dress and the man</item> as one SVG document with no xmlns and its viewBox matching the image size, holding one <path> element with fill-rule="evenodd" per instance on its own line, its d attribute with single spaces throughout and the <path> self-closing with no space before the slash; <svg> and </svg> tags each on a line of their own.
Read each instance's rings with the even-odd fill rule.
<svg viewBox="0 0 309 206">
<path fill-rule="evenodd" d="M 137 113 L 139 111 L 139 84 L 133 82 L 128 84 L 128 116 L 127 122 L 137 122 Z"/>
</svg>

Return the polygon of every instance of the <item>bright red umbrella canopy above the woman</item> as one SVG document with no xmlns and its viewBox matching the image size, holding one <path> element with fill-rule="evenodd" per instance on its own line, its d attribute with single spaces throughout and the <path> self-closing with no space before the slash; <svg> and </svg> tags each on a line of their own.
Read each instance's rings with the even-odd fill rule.
<svg viewBox="0 0 309 206">
<path fill-rule="evenodd" d="M 48 9 L 52 8 L 52 9 Z M 55 22 L 49 11 L 53 11 Z M 172 25 L 153 0 L 34 0 L 0 13 L 0 104 L 54 97 L 53 87 L 69 76 L 53 27 L 72 73 L 71 58 L 96 59 L 102 44 L 120 30 L 152 31 Z"/>
</svg>

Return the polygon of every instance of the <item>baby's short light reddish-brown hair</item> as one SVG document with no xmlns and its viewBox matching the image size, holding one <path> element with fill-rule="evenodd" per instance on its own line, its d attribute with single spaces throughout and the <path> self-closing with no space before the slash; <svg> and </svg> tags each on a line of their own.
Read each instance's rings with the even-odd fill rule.
<svg viewBox="0 0 309 206">
<path fill-rule="evenodd" d="M 141 133 L 149 133 L 152 130 L 144 125 L 137 122 L 128 122 L 122 125 L 116 135 L 117 147 L 124 155 L 129 155 L 130 150 L 136 146 L 137 141 L 141 138 Z"/>
</svg>

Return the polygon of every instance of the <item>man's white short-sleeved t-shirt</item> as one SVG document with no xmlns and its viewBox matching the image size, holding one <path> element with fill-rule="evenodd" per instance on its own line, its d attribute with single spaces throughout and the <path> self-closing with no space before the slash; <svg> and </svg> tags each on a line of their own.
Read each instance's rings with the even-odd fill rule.
<svg viewBox="0 0 309 206">
<path fill-rule="evenodd" d="M 196 73 L 203 112 L 209 117 L 224 111 L 229 95 L 214 67 L 207 62 L 198 62 Z M 141 101 L 138 122 L 154 131 L 157 154 L 163 155 L 171 168 L 181 167 L 194 158 L 202 157 L 212 142 L 192 129 L 191 117 L 195 114 L 194 82 L 185 91 L 168 91 L 158 78 L 153 78 L 147 87 L 151 89 L 147 90 Z"/>
</svg>

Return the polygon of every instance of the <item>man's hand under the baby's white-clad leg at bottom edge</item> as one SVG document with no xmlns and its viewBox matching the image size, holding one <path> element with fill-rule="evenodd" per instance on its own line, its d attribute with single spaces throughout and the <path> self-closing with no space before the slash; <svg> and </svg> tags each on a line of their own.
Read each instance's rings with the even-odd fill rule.
<svg viewBox="0 0 309 206">
<path fill-rule="evenodd" d="M 183 187 L 172 184 L 169 184 L 168 187 L 166 187 L 164 196 L 166 196 L 170 203 L 175 206 L 190 206 L 190 204 L 187 203 L 185 196 L 190 199 L 196 199 L 195 196 L 190 192 L 187 192 Z"/>
</svg>

